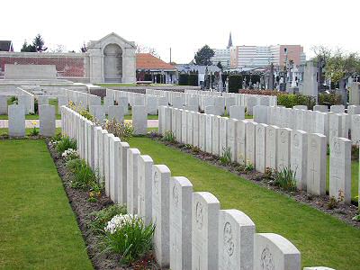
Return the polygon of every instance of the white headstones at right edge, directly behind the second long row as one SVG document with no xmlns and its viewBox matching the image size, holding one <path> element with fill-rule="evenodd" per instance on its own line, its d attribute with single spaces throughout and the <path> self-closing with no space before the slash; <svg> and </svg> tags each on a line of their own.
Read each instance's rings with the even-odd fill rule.
<svg viewBox="0 0 360 270">
<path fill-rule="evenodd" d="M 320 108 L 319 107 L 323 107 Z M 320 110 L 320 111 L 317 111 Z M 314 111 L 307 110 L 306 106 L 294 106 L 284 108 L 281 106 L 254 107 L 254 121 L 276 125 L 281 128 L 304 130 L 309 133 L 320 133 L 327 137 L 330 143 L 334 137 L 349 138 L 353 145 L 360 142 L 360 106 L 349 106 L 345 113 L 343 105 L 331 106 L 328 112 L 327 106 L 315 106 Z"/>
</svg>

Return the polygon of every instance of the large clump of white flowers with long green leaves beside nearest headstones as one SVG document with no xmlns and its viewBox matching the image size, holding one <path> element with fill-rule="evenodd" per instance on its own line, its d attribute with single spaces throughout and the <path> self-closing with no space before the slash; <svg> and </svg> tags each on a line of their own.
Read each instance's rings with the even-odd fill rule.
<svg viewBox="0 0 360 270">
<path fill-rule="evenodd" d="M 116 229 L 104 229 L 104 252 L 119 254 L 121 264 L 127 265 L 149 253 L 152 248 L 154 225 L 146 226 L 143 220 L 131 215 L 116 215 L 109 223 Z"/>
</svg>

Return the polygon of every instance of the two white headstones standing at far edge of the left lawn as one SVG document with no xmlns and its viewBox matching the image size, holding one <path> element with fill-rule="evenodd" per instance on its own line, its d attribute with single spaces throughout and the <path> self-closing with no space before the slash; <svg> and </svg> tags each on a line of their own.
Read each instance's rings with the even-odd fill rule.
<svg viewBox="0 0 360 270">
<path fill-rule="evenodd" d="M 24 137 L 25 136 L 25 110 L 23 105 L 9 105 L 9 136 L 10 137 Z M 55 120 L 55 106 L 40 105 L 39 107 L 39 134 L 45 137 L 52 137 L 55 135 L 56 120 Z"/>
</svg>

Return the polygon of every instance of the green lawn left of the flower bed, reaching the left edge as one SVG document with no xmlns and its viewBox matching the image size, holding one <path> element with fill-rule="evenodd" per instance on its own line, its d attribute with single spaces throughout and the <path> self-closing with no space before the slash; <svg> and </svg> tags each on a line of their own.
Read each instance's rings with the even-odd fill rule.
<svg viewBox="0 0 360 270">
<path fill-rule="evenodd" d="M 0 269 L 92 269 L 44 140 L 0 140 Z"/>
</svg>

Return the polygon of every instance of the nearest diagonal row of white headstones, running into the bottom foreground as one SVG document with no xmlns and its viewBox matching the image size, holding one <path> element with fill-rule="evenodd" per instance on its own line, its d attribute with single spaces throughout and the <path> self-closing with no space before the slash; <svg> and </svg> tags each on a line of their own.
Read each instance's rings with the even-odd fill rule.
<svg viewBox="0 0 360 270">
<path fill-rule="evenodd" d="M 105 193 L 129 213 L 156 225 L 157 263 L 171 269 L 301 269 L 300 251 L 274 233 L 256 233 L 242 211 L 220 210 L 211 193 L 172 176 L 165 165 L 62 107 L 63 134 L 77 141 L 80 157 L 98 168 Z M 311 269 L 311 268 L 307 268 Z M 326 269 L 326 268 L 323 268 Z"/>
</svg>

